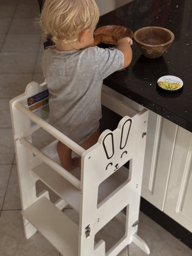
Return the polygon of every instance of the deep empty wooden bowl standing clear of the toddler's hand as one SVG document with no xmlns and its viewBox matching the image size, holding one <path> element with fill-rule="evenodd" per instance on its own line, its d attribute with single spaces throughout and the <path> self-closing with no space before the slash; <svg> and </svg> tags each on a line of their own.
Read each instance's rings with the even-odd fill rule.
<svg viewBox="0 0 192 256">
<path fill-rule="evenodd" d="M 144 27 L 133 35 L 142 54 L 151 59 L 161 57 L 174 40 L 174 34 L 162 27 Z"/>
</svg>

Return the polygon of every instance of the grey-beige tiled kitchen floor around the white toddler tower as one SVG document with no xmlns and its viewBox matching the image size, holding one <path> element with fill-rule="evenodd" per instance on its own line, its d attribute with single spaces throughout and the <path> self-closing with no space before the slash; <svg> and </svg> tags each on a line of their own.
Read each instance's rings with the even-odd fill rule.
<svg viewBox="0 0 192 256">
<path fill-rule="evenodd" d="M 44 39 L 35 23 L 38 15 L 37 0 L 0 0 L 1 256 L 60 256 L 39 233 L 25 239 L 9 110 L 10 99 L 21 94 L 29 82 L 43 82 L 40 59 Z M 38 186 L 42 188 L 41 183 Z M 151 256 L 189 256 L 192 253 L 143 213 L 140 213 L 139 235 L 148 243 Z M 129 247 L 130 256 L 146 255 L 134 244 Z M 127 255 L 127 251 L 119 255 Z"/>
</svg>

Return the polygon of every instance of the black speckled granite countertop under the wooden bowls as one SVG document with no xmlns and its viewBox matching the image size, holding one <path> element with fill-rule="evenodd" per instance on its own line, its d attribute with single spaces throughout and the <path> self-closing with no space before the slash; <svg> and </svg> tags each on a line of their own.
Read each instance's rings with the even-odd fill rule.
<svg viewBox="0 0 192 256">
<path fill-rule="evenodd" d="M 104 84 L 140 105 L 192 132 L 192 1 L 134 0 L 100 17 L 97 27 L 121 25 L 133 33 L 146 26 L 170 29 L 175 39 L 158 59 L 144 57 L 133 41 L 129 67 L 104 80 Z M 157 89 L 157 79 L 178 76 L 183 90 L 164 93 Z"/>
</svg>

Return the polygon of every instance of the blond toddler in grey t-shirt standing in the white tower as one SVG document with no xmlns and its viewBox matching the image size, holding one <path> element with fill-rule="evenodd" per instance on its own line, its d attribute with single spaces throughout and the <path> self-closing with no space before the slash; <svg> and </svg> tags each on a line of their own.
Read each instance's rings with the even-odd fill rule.
<svg viewBox="0 0 192 256">
<path fill-rule="evenodd" d="M 85 149 L 99 138 L 103 79 L 127 67 L 132 59 L 132 39 L 120 39 L 115 50 L 93 47 L 93 31 L 99 20 L 94 0 L 46 0 L 40 23 L 47 47 L 42 69 L 50 98 L 49 123 Z M 58 142 L 61 166 L 79 166 L 71 149 Z"/>
</svg>

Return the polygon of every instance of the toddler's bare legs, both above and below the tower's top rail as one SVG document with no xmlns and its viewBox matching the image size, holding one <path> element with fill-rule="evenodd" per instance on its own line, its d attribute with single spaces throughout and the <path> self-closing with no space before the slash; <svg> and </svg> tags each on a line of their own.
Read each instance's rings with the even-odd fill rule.
<svg viewBox="0 0 192 256">
<path fill-rule="evenodd" d="M 84 141 L 80 144 L 80 146 L 84 149 L 88 149 L 91 146 L 93 146 L 95 143 L 97 143 L 99 139 L 99 129 L 95 131 L 89 139 Z M 81 168 L 81 158 L 79 157 L 71 157 L 72 150 L 68 148 L 65 144 L 63 144 L 61 141 L 58 141 L 57 145 L 57 151 L 59 155 L 59 159 L 61 162 L 61 166 L 65 168 L 67 171 L 71 171 L 76 167 Z"/>
</svg>

